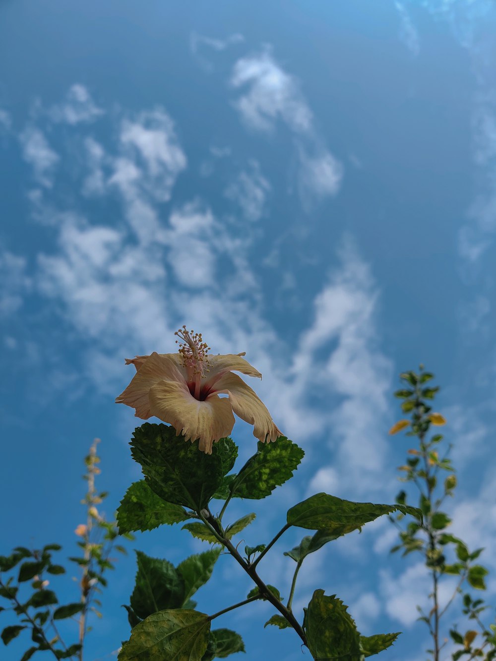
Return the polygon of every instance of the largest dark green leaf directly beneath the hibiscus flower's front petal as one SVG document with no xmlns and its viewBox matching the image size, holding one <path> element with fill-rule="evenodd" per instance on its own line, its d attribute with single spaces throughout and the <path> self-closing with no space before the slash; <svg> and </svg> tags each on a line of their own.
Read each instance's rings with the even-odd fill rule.
<svg viewBox="0 0 496 661">
<path fill-rule="evenodd" d="M 207 455 L 196 441 L 176 436 L 173 427 L 145 422 L 134 430 L 131 451 L 157 496 L 199 512 L 222 483 L 227 457 L 237 449 L 231 438 L 221 438 Z"/>
</svg>

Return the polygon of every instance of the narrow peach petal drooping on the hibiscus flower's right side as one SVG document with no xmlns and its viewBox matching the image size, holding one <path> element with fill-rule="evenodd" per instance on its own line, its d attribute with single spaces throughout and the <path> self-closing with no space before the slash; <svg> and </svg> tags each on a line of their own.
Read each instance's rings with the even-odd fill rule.
<svg viewBox="0 0 496 661">
<path fill-rule="evenodd" d="M 228 393 L 233 411 L 245 422 L 253 424 L 253 436 L 265 443 L 282 436 L 265 404 L 255 391 L 237 374 L 227 373 L 216 383 L 217 393 Z"/>
</svg>

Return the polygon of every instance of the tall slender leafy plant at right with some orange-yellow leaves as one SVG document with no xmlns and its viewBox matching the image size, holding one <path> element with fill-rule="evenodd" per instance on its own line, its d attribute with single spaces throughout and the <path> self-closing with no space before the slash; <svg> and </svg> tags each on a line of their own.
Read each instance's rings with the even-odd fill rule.
<svg viewBox="0 0 496 661">
<path fill-rule="evenodd" d="M 399 528 L 399 544 L 391 550 L 403 551 L 403 556 L 409 553 L 421 553 L 425 566 L 431 573 L 433 591 L 430 594 L 432 608 L 429 613 L 420 613 L 419 620 L 429 628 L 433 639 L 433 649 L 427 650 L 434 661 L 438 661 L 440 650 L 446 642 L 440 643 L 440 620 L 446 614 L 454 600 L 463 594 L 463 586 L 467 585 L 475 590 L 485 590 L 485 576 L 488 571 L 483 565 L 477 563 L 483 549 L 470 551 L 468 545 L 459 537 L 446 532 L 452 523 L 450 516 L 443 510 L 444 502 L 454 496 L 457 480 L 449 457 L 452 446 L 442 451 L 443 436 L 437 432 L 432 433 L 433 426 L 442 426 L 446 420 L 437 412 L 433 412 L 433 403 L 438 386 L 431 386 L 434 375 L 424 371 L 421 366 L 419 373 L 407 371 L 400 375 L 403 387 L 396 391 L 395 397 L 402 400 L 401 410 L 410 414 L 409 419 L 399 420 L 390 430 L 396 434 L 400 430 L 407 430 L 406 436 L 417 438 L 416 447 L 408 450 L 404 465 L 399 467 L 403 474 L 400 481 L 413 483 L 417 488 L 419 510 L 422 516 L 414 517 L 405 527 L 401 525 L 403 514 L 400 512 L 392 517 Z M 444 477 L 443 477 L 444 473 Z M 396 502 L 405 505 L 407 502 L 406 490 L 397 494 Z M 440 580 L 446 575 L 458 577 L 454 594 L 444 607 L 438 603 L 438 586 Z M 483 600 L 472 601 L 469 593 L 463 594 L 464 613 L 470 619 L 476 619 L 483 639 L 479 646 L 474 647 L 474 639 L 479 636 L 477 631 L 468 629 L 465 635 L 458 633 L 456 627 L 450 629 L 450 637 L 462 648 L 454 652 L 452 658 L 456 661 L 463 656 L 468 659 L 483 657 L 487 660 L 496 656 L 494 631 L 485 628 L 479 614 L 486 609 Z M 491 625 L 493 627 L 493 625 Z M 445 639 L 446 640 L 446 639 Z"/>
</svg>

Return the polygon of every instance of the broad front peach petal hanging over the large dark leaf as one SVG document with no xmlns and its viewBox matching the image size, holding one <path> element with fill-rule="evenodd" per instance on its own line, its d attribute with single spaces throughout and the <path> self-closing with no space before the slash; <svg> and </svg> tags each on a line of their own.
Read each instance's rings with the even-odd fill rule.
<svg viewBox="0 0 496 661">
<path fill-rule="evenodd" d="M 177 381 L 159 381 L 149 391 L 151 414 L 171 424 L 177 436 L 199 439 L 198 448 L 212 453 L 212 443 L 233 430 L 234 416 L 227 397 L 209 395 L 204 401 L 194 399 L 188 387 Z"/>
</svg>

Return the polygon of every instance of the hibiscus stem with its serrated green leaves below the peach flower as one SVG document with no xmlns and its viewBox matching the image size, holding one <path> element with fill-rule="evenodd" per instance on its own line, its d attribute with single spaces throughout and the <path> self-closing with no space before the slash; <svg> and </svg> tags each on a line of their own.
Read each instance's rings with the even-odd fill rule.
<svg viewBox="0 0 496 661">
<path fill-rule="evenodd" d="M 419 510 L 399 503 L 360 503 L 315 494 L 288 510 L 285 524 L 272 540 L 245 545 L 242 557 L 231 539 L 253 522 L 255 514 L 247 513 L 226 525 L 223 519 L 229 502 L 232 498 L 259 500 L 270 496 L 276 486 L 292 477 L 304 455 L 302 449 L 284 436 L 272 444 L 259 443 L 255 455 L 233 473 L 237 446 L 231 438 L 222 438 L 214 444 L 212 454 L 205 455 L 198 451 L 197 442 L 178 438 L 172 427 L 145 423 L 135 430 L 130 445 L 134 459 L 142 466 L 144 479 L 132 484 L 121 501 L 117 513 L 120 533 L 183 524 L 190 535 L 212 546 L 205 553 L 186 558 L 177 567 L 165 559 L 137 552 L 136 584 L 130 604 L 126 605 L 132 631 L 122 646 L 119 661 L 176 656 L 210 661 L 242 651 L 244 644 L 237 633 L 211 630 L 210 623 L 233 608 L 258 600 L 270 602 L 277 611 L 265 626 L 294 629 L 315 659 L 358 661 L 393 643 L 397 633 L 361 637 L 343 602 L 335 596 L 326 597 L 323 590 L 315 591 L 300 623 L 292 611 L 296 578 L 304 559 L 327 542 L 359 530 L 384 514 L 401 512 L 422 520 Z M 218 508 L 212 506 L 215 500 L 224 501 L 218 514 L 212 513 Z M 290 527 L 311 530 L 313 534 L 284 554 L 296 563 L 290 596 L 284 604 L 279 589 L 265 583 L 257 568 Z M 191 597 L 210 578 L 223 549 L 241 565 L 255 587 L 241 602 L 206 615 L 195 610 Z"/>
</svg>

